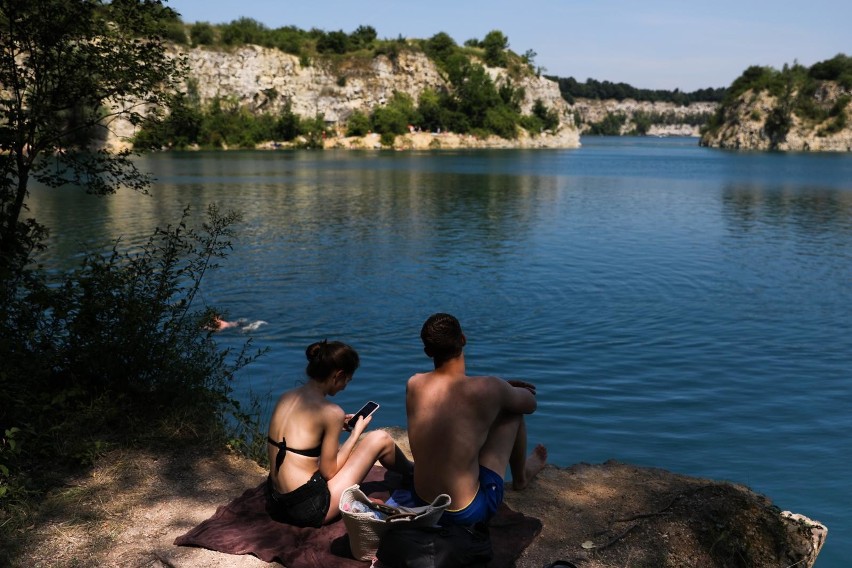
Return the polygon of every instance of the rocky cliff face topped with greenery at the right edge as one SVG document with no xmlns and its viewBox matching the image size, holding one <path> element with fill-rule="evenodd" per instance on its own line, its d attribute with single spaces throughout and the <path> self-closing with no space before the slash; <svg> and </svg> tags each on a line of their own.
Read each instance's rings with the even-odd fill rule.
<svg viewBox="0 0 852 568">
<path fill-rule="evenodd" d="M 841 106 L 848 106 L 842 105 L 842 101 L 851 94 L 837 83 L 827 81 L 813 98 L 816 105 L 829 109 L 838 101 Z M 844 117 L 846 112 L 840 111 Z M 782 102 L 766 91 L 749 90 L 725 107 L 724 122 L 702 136 L 701 145 L 744 150 L 850 152 L 852 121 L 839 115 L 825 120 L 803 117 L 785 110 Z"/>
</svg>

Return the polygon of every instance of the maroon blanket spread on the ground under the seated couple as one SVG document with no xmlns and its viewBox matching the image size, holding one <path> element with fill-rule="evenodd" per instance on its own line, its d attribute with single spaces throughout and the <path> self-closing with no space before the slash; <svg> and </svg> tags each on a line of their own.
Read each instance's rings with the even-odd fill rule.
<svg viewBox="0 0 852 568">
<path fill-rule="evenodd" d="M 398 476 L 375 466 L 361 489 L 371 497 L 387 499 L 398 486 Z M 265 562 L 278 561 L 287 568 L 364 568 L 352 558 L 346 527 L 341 521 L 320 529 L 277 523 L 266 514 L 264 484 L 247 490 L 183 536 L 178 546 L 200 546 L 228 554 L 254 554 Z M 514 566 L 521 552 L 541 530 L 541 521 L 511 510 L 505 503 L 491 520 L 494 560 L 491 568 Z"/>
</svg>

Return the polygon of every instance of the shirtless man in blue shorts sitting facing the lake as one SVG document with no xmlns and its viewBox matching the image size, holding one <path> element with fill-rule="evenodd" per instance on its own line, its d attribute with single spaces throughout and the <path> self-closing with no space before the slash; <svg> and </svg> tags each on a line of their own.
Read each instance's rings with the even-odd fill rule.
<svg viewBox="0 0 852 568">
<path fill-rule="evenodd" d="M 526 455 L 524 414 L 536 409 L 535 387 L 465 373 L 466 339 L 449 314 L 431 316 L 420 332 L 435 370 L 408 380 L 408 438 L 414 455 L 414 491 L 421 502 L 452 498 L 442 525 L 490 519 L 503 500 L 507 466 L 520 490 L 544 468 L 547 450 Z"/>
</svg>

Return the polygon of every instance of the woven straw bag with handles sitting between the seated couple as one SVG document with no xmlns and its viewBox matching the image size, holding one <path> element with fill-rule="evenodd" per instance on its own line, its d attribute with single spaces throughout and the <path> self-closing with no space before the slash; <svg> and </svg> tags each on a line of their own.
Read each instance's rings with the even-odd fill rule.
<svg viewBox="0 0 852 568">
<path fill-rule="evenodd" d="M 356 484 L 343 491 L 340 496 L 340 514 L 352 556 L 358 560 L 372 560 L 379 548 L 382 536 L 397 523 L 410 527 L 428 527 L 436 524 L 450 506 L 450 496 L 438 495 L 423 507 L 390 507 L 373 503 Z"/>
</svg>

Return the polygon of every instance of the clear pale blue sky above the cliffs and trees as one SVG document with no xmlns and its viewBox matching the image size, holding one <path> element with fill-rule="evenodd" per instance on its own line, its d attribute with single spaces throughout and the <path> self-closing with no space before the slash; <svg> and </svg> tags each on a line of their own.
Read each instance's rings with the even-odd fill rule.
<svg viewBox="0 0 852 568">
<path fill-rule="evenodd" d="M 491 30 L 545 72 L 647 89 L 727 87 L 750 65 L 810 66 L 852 56 L 852 0 L 167 0 L 185 22 L 253 18 L 270 28 L 457 43 Z"/>
</svg>

